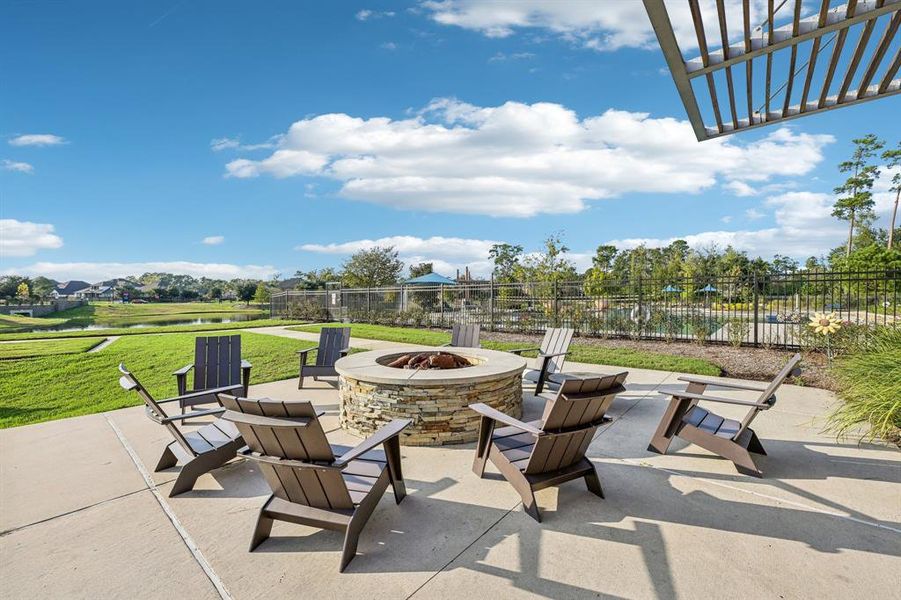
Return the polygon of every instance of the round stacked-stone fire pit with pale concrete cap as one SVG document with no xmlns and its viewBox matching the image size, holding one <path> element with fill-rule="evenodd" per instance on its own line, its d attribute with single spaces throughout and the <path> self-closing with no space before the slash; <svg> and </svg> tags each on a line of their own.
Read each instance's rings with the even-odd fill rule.
<svg viewBox="0 0 901 600">
<path fill-rule="evenodd" d="M 454 354 L 472 366 L 404 369 L 387 366 L 405 354 Z M 341 427 L 368 436 L 392 419 L 412 419 L 401 435 L 407 446 L 475 441 L 479 416 L 468 406 L 484 402 L 515 418 L 522 415 L 522 372 L 526 360 L 481 348 L 373 350 L 340 359 Z"/>
</svg>

